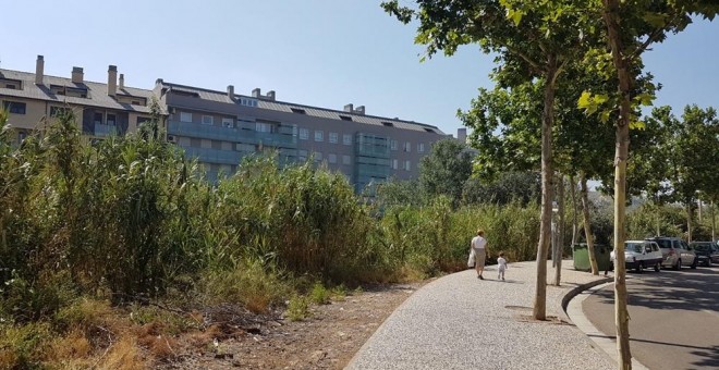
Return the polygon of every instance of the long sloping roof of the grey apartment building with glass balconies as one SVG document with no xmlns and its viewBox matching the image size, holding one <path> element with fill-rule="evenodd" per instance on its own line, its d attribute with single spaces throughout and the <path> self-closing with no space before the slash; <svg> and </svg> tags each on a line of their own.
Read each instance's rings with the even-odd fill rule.
<svg viewBox="0 0 719 370">
<path fill-rule="evenodd" d="M 240 95 L 240 94 L 235 94 L 235 100 L 233 101 L 232 99 L 230 99 L 227 91 L 209 90 L 199 87 L 167 83 L 161 79 L 158 79 L 158 84 L 161 85 L 161 88 L 169 88 L 170 90 L 182 91 L 185 94 L 197 94 L 198 97 L 203 100 L 234 104 L 236 103 L 237 98 L 248 98 L 248 99 L 257 100 L 257 108 L 259 109 L 293 113 L 292 108 L 294 108 L 294 109 L 303 110 L 304 114 L 306 115 L 317 116 L 321 119 L 346 121 L 341 118 L 341 115 L 343 115 L 343 116 L 352 118 L 352 121 L 357 123 L 387 126 L 387 124 L 385 124 L 383 122 L 389 122 L 392 124 L 393 127 L 401 130 L 432 132 L 438 135 L 446 135 L 441 130 L 437 128 L 437 126 L 418 123 L 414 121 L 389 119 L 389 118 L 382 118 L 376 115 L 366 115 L 355 112 L 346 112 L 346 111 L 332 110 L 327 108 L 310 107 L 310 106 L 297 104 L 287 101 L 267 100 L 265 98 L 256 98 L 253 96 Z"/>
</svg>

